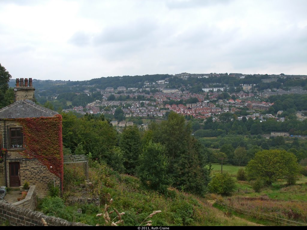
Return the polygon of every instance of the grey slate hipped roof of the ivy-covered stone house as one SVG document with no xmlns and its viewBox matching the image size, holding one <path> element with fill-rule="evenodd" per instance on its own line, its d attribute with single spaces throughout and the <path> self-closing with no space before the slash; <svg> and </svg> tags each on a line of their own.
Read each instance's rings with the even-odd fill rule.
<svg viewBox="0 0 307 230">
<path fill-rule="evenodd" d="M 53 117 L 56 111 L 37 105 L 32 101 L 20 100 L 0 109 L 0 119 L 26 117 Z"/>
</svg>

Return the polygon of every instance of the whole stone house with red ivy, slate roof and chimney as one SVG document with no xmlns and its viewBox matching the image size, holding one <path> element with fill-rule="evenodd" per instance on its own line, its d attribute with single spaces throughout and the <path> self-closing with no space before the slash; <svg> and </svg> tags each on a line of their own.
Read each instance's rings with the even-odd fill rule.
<svg viewBox="0 0 307 230">
<path fill-rule="evenodd" d="M 0 109 L 0 186 L 29 182 L 44 197 L 49 184 L 62 189 L 62 116 L 35 104 L 34 91 L 31 78 L 29 86 L 28 79 L 21 78 L 20 85 L 16 79 L 14 103 Z"/>
</svg>

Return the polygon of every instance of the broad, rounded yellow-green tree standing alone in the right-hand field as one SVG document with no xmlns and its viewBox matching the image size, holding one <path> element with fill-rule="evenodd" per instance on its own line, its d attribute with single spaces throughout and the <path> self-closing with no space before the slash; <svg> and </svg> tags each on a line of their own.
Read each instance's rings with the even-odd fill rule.
<svg viewBox="0 0 307 230">
<path fill-rule="evenodd" d="M 271 149 L 256 153 L 245 171 L 249 180 L 260 179 L 271 185 L 280 179 L 295 180 L 299 174 L 299 165 L 293 153 Z"/>
</svg>

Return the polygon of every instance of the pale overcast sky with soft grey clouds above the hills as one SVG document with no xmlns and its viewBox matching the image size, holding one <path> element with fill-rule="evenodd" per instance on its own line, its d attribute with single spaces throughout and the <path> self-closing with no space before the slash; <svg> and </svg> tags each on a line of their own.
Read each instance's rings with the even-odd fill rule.
<svg viewBox="0 0 307 230">
<path fill-rule="evenodd" d="M 307 75 L 306 0 L 0 0 L 16 78 Z"/>
</svg>

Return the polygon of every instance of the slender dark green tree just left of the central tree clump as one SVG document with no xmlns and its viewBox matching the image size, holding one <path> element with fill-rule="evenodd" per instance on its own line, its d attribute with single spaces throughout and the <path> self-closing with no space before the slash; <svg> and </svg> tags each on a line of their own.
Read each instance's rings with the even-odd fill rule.
<svg viewBox="0 0 307 230">
<path fill-rule="evenodd" d="M 126 173 L 135 174 L 138 157 L 141 153 L 141 136 L 136 125 L 124 128 L 119 139 L 119 147 L 124 152 Z"/>
</svg>

